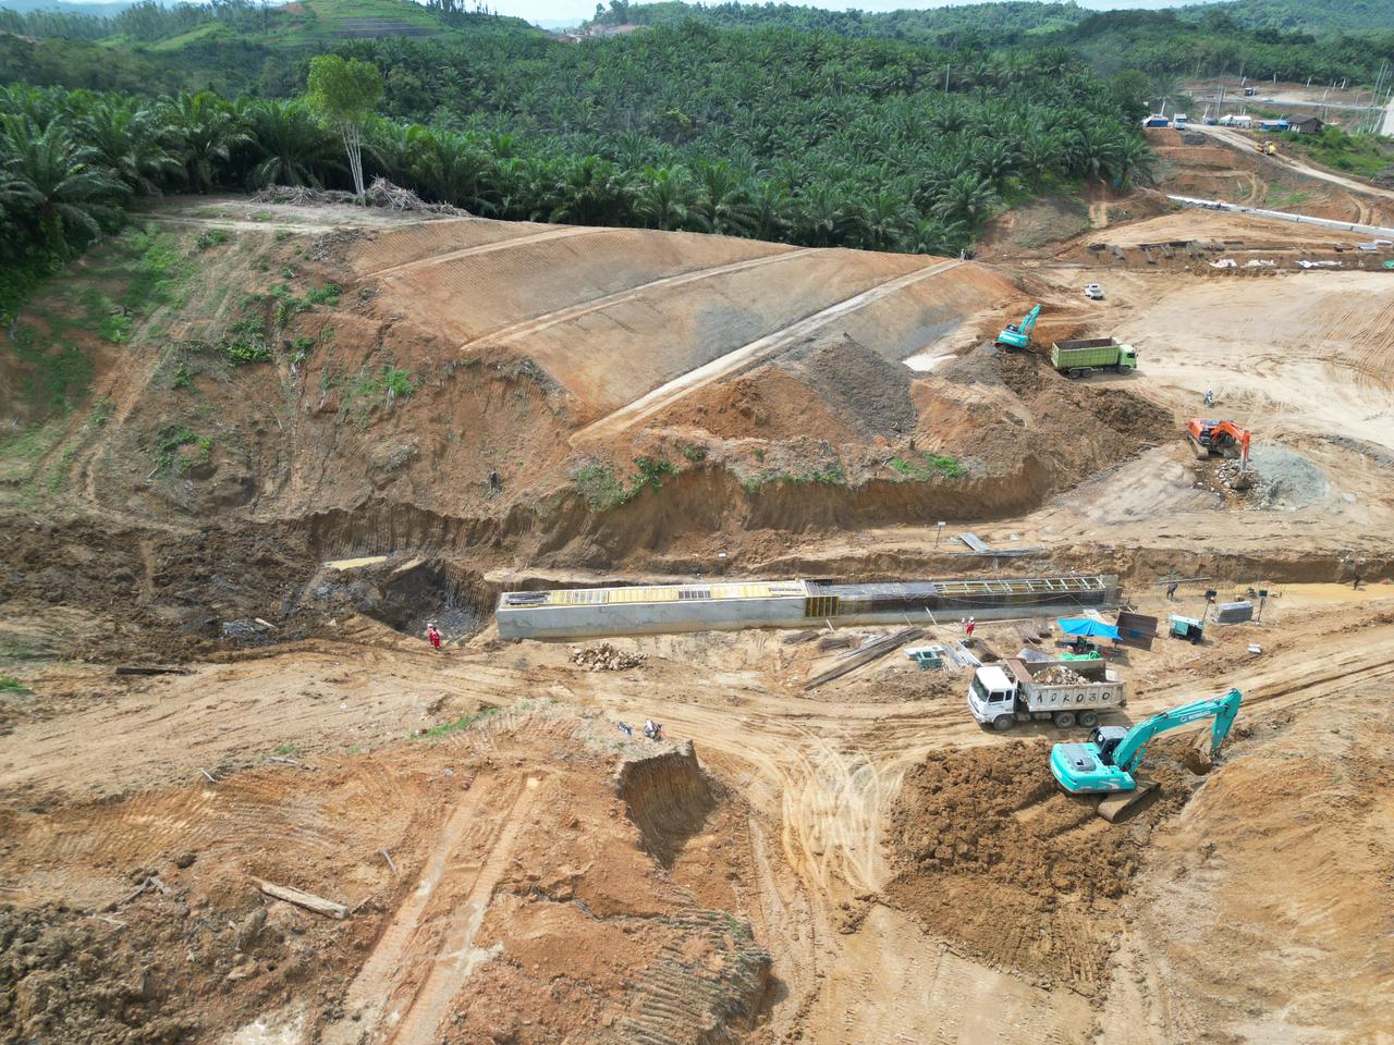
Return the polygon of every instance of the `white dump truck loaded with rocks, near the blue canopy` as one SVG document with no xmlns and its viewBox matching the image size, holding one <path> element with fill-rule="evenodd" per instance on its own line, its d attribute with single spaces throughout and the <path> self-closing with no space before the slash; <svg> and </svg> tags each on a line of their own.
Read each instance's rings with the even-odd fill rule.
<svg viewBox="0 0 1394 1045">
<path fill-rule="evenodd" d="M 1128 706 L 1124 680 L 1103 660 L 1018 660 L 973 672 L 967 709 L 984 726 L 1006 732 L 1018 722 L 1076 722 L 1093 729 L 1098 713 Z"/>
</svg>

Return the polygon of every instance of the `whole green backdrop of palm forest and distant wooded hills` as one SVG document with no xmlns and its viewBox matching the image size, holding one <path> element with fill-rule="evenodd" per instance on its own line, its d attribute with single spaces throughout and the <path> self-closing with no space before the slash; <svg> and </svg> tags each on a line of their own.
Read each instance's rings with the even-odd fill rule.
<svg viewBox="0 0 1394 1045">
<path fill-rule="evenodd" d="M 1139 117 L 1175 96 L 1178 63 L 1322 75 L 1376 54 L 1374 38 L 1299 45 L 1217 11 L 899 13 L 940 25 L 935 42 L 828 31 L 881 15 L 697 10 L 776 11 L 781 24 L 683 18 L 563 43 L 459 0 L 302 0 L 289 13 L 146 0 L 92 18 L 98 40 L 0 33 L 0 305 L 141 198 L 350 187 L 339 135 L 305 102 L 307 65 L 325 52 L 382 72 L 362 173 L 428 199 L 503 219 L 935 254 L 970 248 L 1012 203 L 1146 177 Z M 336 35 L 385 17 L 414 35 Z M 969 43 L 983 22 L 1015 43 Z M 1301 67 L 1282 64 L 1296 53 Z"/>
</svg>

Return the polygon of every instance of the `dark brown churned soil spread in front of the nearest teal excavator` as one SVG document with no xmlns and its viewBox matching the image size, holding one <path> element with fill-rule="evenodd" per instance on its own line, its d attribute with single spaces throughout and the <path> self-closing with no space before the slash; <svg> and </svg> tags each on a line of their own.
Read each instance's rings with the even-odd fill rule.
<svg viewBox="0 0 1394 1045">
<path fill-rule="evenodd" d="M 1050 747 L 934 752 L 905 779 L 891 822 L 889 903 L 994 964 L 1097 991 L 1150 828 L 1188 794 L 1158 769 L 1161 796 L 1110 825 L 1050 773 Z"/>
</svg>

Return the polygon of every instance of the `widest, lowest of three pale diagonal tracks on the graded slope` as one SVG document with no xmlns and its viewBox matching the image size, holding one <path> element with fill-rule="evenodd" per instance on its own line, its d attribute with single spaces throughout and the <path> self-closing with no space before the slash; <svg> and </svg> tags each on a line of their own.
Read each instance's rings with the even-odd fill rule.
<svg viewBox="0 0 1394 1045">
<path fill-rule="evenodd" d="M 856 312 L 859 308 L 881 301 L 891 294 L 914 286 L 921 280 L 933 279 L 934 276 L 940 276 L 951 269 L 956 269 L 960 265 L 966 265 L 966 262 L 958 259 L 941 261 L 924 269 L 896 276 L 885 283 L 878 283 L 870 290 L 864 290 L 834 305 L 828 305 L 827 308 L 804 316 L 803 319 L 775 330 L 774 333 L 765 334 L 758 340 L 735 348 L 725 355 L 719 355 L 708 364 L 697 366 L 679 378 L 673 378 L 672 380 L 659 385 L 657 389 L 640 396 L 629 405 L 620 407 L 612 414 L 591 422 L 572 436 L 572 444 L 574 446 L 576 443 L 587 439 L 604 439 L 606 436 L 619 435 L 636 422 L 643 421 L 661 410 L 666 410 L 686 396 L 690 396 L 693 392 L 703 389 L 712 382 L 721 380 L 744 366 L 768 358 L 800 337 L 807 337 L 839 316 Z"/>
</svg>

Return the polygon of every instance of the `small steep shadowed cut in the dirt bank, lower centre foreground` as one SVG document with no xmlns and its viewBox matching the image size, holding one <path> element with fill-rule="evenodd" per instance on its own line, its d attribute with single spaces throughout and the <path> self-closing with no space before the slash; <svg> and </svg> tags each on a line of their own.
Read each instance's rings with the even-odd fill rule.
<svg viewBox="0 0 1394 1045">
<path fill-rule="evenodd" d="M 644 851 L 664 867 L 672 867 L 717 805 L 690 740 L 659 754 L 625 758 L 615 769 L 615 794 L 638 828 Z"/>
</svg>

